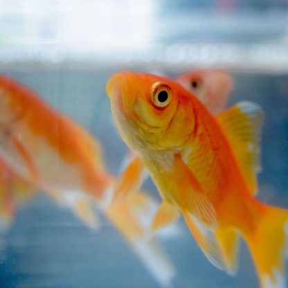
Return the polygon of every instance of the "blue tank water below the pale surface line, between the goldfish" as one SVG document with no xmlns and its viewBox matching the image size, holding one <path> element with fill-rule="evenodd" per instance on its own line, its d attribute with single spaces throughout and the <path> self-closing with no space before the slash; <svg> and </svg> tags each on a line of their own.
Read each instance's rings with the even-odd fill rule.
<svg viewBox="0 0 288 288">
<path fill-rule="evenodd" d="M 116 174 L 127 147 L 112 123 L 105 83 L 121 68 L 6 66 L 0 67 L 0 73 L 24 82 L 89 129 L 105 147 L 107 169 Z M 165 73 L 175 75 L 175 71 Z M 252 100 L 265 111 L 259 198 L 288 208 L 288 77 L 268 73 L 233 73 L 233 77 L 230 104 Z M 157 195 L 151 181 L 145 187 Z M 174 287 L 257 287 L 243 242 L 239 271 L 230 277 L 206 260 L 182 219 L 178 224 L 179 233 L 159 237 L 178 270 Z M 100 231 L 91 231 L 68 208 L 41 192 L 17 210 L 15 222 L 2 239 L 0 287 L 159 287 L 107 220 L 102 219 Z"/>
</svg>

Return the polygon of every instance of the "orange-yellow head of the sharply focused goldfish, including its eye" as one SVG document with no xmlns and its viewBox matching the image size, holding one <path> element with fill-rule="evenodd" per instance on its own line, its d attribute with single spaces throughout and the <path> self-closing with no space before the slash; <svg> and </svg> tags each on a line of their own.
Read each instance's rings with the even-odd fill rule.
<svg viewBox="0 0 288 288">
<path fill-rule="evenodd" d="M 123 71 L 108 80 L 107 95 L 118 131 L 132 150 L 178 149 L 193 131 L 195 97 L 173 80 Z"/>
</svg>

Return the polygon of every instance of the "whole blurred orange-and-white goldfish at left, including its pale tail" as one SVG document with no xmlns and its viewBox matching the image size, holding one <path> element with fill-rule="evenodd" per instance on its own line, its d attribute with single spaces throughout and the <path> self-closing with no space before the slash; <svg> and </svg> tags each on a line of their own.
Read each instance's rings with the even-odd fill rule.
<svg viewBox="0 0 288 288">
<path fill-rule="evenodd" d="M 16 180 L 24 179 L 30 188 L 44 190 L 56 201 L 73 208 L 93 228 L 98 224 L 93 210 L 96 204 L 156 280 L 163 286 L 169 285 L 174 267 L 156 240 L 144 237 L 143 213 L 153 215 L 155 209 L 150 206 L 155 207 L 156 201 L 141 192 L 140 197 L 134 195 L 129 201 L 105 204 L 116 177 L 106 172 L 96 139 L 50 107 L 37 93 L 3 75 L 0 76 L 0 156 L 10 167 L 9 177 L 15 180 L 3 179 L 2 188 L 9 195 L 10 190 L 21 194 Z M 0 167 L 2 175 L 5 169 L 6 166 Z"/>
</svg>

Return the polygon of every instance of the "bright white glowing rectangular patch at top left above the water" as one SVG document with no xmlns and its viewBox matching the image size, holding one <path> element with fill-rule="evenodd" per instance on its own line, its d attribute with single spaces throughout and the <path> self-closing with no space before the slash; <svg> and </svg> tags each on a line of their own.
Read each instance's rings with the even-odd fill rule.
<svg viewBox="0 0 288 288">
<path fill-rule="evenodd" d="M 0 44 L 93 49 L 150 44 L 154 1 L 2 1 Z"/>
</svg>

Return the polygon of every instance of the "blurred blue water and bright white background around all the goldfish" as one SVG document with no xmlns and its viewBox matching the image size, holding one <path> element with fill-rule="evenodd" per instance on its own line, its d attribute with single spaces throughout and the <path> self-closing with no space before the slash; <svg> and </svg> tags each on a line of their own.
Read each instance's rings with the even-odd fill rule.
<svg viewBox="0 0 288 288">
<path fill-rule="evenodd" d="M 140 3 L 140 2 L 139 2 Z M 0 73 L 35 89 L 104 147 L 118 174 L 127 147 L 111 120 L 105 83 L 122 69 L 170 76 L 224 67 L 235 80 L 229 105 L 265 112 L 258 198 L 288 208 L 288 33 L 285 0 L 0 0 Z M 159 196 L 152 181 L 145 188 Z M 69 208 L 39 193 L 0 235 L 0 287 L 159 287 L 102 217 L 91 231 Z M 159 242 L 177 267 L 173 287 L 258 287 L 240 245 L 234 277 L 201 253 L 183 219 Z"/>
</svg>

